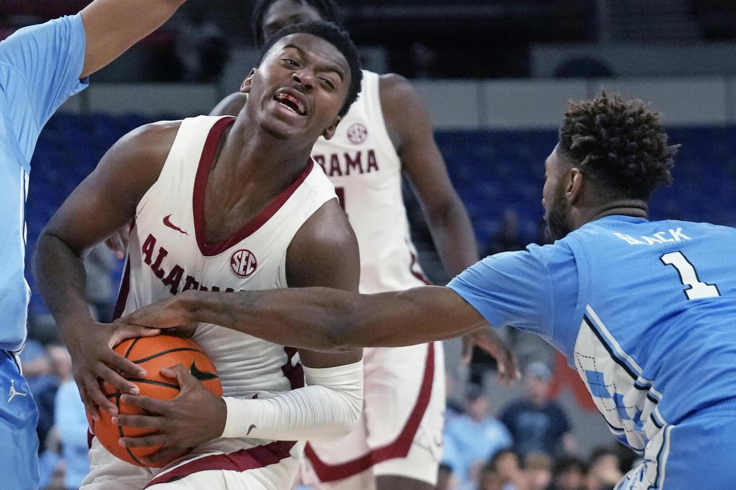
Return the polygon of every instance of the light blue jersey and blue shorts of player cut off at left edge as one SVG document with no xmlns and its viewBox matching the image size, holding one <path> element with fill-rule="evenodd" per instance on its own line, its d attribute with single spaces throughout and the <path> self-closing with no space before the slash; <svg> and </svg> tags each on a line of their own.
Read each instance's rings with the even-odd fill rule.
<svg viewBox="0 0 736 490">
<path fill-rule="evenodd" d="M 85 88 L 79 82 L 84 57 L 81 15 L 20 29 L 0 43 L 0 475 L 8 490 L 38 488 L 38 409 L 17 356 L 7 352 L 21 349 L 26 338 L 30 160 L 54 110 Z"/>
</svg>

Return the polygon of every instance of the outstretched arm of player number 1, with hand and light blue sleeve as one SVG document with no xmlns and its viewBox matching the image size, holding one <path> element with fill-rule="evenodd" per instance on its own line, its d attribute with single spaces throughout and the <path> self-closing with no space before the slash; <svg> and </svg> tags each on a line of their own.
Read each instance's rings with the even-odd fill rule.
<svg viewBox="0 0 736 490">
<path fill-rule="evenodd" d="M 575 324 L 576 281 L 576 261 L 567 245 L 532 245 L 485 258 L 445 287 L 381 294 L 328 288 L 232 294 L 185 291 L 141 308 L 124 321 L 184 330 L 194 322 L 210 322 L 323 352 L 423 344 L 488 324 L 513 325 L 556 339 L 556 345 L 565 348 L 574 338 L 569 329 Z"/>
</svg>

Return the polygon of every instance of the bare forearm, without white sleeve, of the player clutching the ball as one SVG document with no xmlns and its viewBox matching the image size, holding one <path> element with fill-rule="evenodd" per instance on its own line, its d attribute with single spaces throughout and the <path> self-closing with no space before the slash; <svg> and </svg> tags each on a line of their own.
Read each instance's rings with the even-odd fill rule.
<svg viewBox="0 0 736 490">
<path fill-rule="evenodd" d="M 84 262 L 60 238 L 41 234 L 33 257 L 33 274 L 63 337 L 70 325 L 93 321 L 85 299 Z"/>
</svg>

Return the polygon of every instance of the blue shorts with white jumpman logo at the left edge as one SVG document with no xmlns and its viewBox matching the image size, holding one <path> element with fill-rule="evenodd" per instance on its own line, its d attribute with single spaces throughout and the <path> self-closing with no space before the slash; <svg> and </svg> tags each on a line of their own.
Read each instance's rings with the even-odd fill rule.
<svg viewBox="0 0 736 490">
<path fill-rule="evenodd" d="M 0 486 L 38 489 L 38 408 L 21 375 L 20 363 L 0 350 Z"/>
</svg>

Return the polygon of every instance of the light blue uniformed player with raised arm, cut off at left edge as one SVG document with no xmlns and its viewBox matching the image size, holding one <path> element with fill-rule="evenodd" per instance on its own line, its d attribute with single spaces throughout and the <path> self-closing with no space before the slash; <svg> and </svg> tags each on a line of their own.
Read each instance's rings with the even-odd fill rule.
<svg viewBox="0 0 736 490">
<path fill-rule="evenodd" d="M 4 489 L 38 486 L 38 409 L 18 360 L 26 339 L 29 300 L 24 207 L 38 134 L 68 97 L 87 86 L 90 74 L 149 35 L 184 1 L 95 0 L 77 15 L 20 29 L 0 43 L 0 394 L 4 395 L 0 397 L 0 475 L 4 475 Z"/>
</svg>

